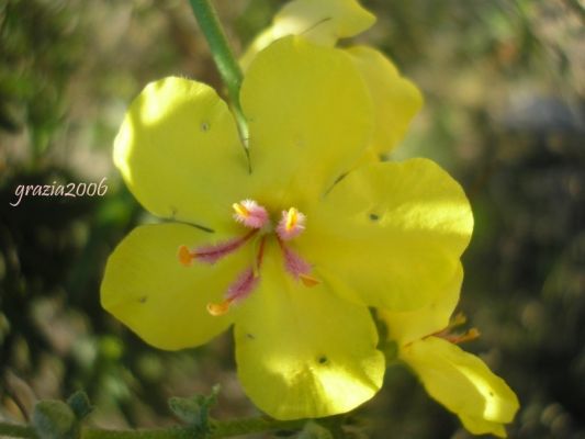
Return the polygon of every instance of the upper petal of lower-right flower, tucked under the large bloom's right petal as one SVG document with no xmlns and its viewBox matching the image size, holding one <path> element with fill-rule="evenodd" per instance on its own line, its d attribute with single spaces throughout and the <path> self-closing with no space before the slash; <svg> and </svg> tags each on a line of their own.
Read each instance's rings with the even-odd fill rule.
<svg viewBox="0 0 585 439">
<path fill-rule="evenodd" d="M 404 346 L 445 329 L 459 302 L 462 281 L 463 267 L 460 263 L 452 284 L 424 307 L 403 312 L 378 309 L 379 318 L 387 326 L 389 337 Z"/>
</svg>

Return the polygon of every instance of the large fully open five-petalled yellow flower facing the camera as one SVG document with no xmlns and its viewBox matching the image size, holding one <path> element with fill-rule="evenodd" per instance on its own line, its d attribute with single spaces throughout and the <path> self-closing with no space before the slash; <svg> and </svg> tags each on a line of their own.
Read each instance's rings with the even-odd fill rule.
<svg viewBox="0 0 585 439">
<path fill-rule="evenodd" d="M 416 308 L 452 282 L 469 202 L 429 160 L 356 169 L 373 110 L 346 52 L 282 38 L 250 65 L 240 102 L 247 151 L 201 82 L 166 78 L 132 103 L 114 161 L 145 209 L 173 222 L 119 245 L 102 305 L 162 349 L 234 324 L 238 375 L 262 410 L 348 412 L 385 369 L 368 307 Z"/>
</svg>

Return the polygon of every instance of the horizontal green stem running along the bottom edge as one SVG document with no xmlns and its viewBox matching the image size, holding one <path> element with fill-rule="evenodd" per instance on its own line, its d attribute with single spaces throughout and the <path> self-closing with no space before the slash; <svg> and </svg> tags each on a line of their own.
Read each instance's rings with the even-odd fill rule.
<svg viewBox="0 0 585 439">
<path fill-rule="evenodd" d="M 265 418 L 243 418 L 225 421 L 213 421 L 213 429 L 209 435 L 198 436 L 189 427 L 170 427 L 138 430 L 109 430 L 83 427 L 81 439 L 220 439 L 233 436 L 273 430 L 300 430 L 306 420 L 275 420 Z M 33 428 L 14 424 L 0 423 L 0 436 L 12 438 L 36 439 Z"/>
</svg>

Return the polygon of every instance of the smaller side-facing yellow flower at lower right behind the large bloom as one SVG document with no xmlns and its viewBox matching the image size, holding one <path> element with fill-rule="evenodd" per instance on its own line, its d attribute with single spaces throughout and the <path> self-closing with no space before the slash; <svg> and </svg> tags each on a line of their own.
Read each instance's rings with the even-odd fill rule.
<svg viewBox="0 0 585 439">
<path fill-rule="evenodd" d="M 513 421 L 519 407 L 516 394 L 480 358 L 457 346 L 476 337 L 476 330 L 449 335 L 462 279 L 460 269 L 451 288 L 420 309 L 379 311 L 379 315 L 389 337 L 398 344 L 398 357 L 418 374 L 430 396 L 457 414 L 470 432 L 504 438 L 504 425 Z"/>
</svg>

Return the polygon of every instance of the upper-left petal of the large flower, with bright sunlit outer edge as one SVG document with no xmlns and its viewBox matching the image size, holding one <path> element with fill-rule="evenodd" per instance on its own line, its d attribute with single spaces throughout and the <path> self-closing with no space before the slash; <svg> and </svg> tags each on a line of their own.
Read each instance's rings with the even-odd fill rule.
<svg viewBox="0 0 585 439">
<path fill-rule="evenodd" d="M 214 228 L 244 198 L 246 154 L 226 103 L 182 78 L 151 82 L 130 106 L 114 162 L 153 214 Z"/>
</svg>

